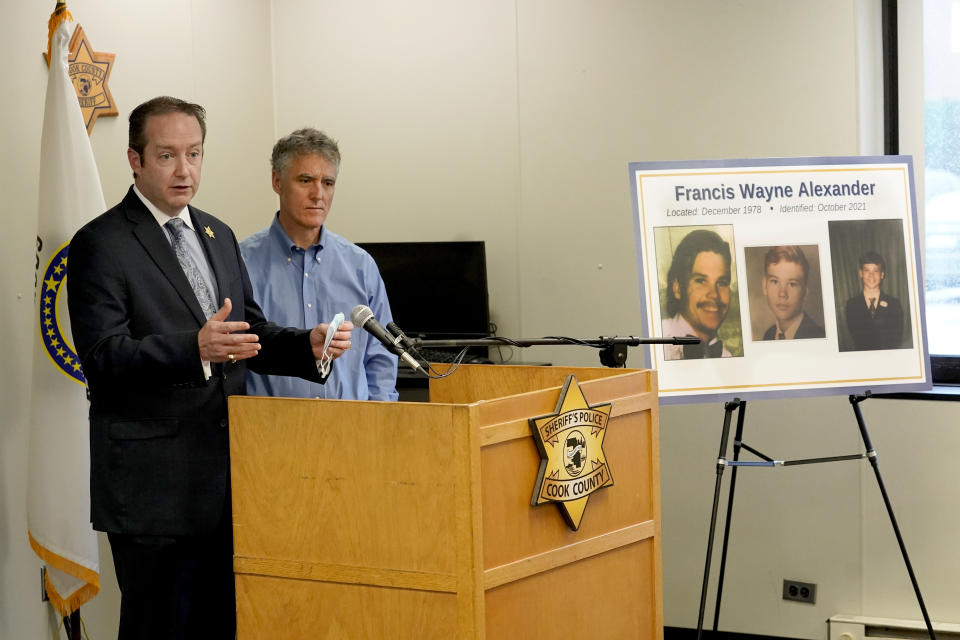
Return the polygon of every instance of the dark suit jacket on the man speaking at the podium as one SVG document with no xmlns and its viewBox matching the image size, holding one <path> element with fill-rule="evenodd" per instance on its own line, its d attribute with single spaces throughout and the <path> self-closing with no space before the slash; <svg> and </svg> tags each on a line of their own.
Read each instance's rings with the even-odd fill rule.
<svg viewBox="0 0 960 640">
<path fill-rule="evenodd" d="M 70 322 L 90 397 L 95 529 L 188 535 L 210 531 L 229 488 L 227 396 L 246 369 L 319 381 L 309 331 L 266 322 L 233 231 L 190 207 L 229 320 L 246 320 L 262 349 L 213 365 L 204 379 L 197 333 L 206 322 L 173 248 L 131 189 L 86 224 L 67 262 Z M 210 237 L 203 230 L 208 228 Z"/>
</svg>

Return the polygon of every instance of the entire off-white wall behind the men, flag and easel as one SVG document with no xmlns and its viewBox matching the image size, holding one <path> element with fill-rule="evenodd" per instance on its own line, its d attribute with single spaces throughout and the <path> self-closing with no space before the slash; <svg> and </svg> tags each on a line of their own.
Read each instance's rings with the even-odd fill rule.
<svg viewBox="0 0 960 640">
<path fill-rule="evenodd" d="M 32 4 L 32 3 L 31 3 Z M 354 240 L 487 242 L 491 311 L 512 336 L 637 334 L 626 165 L 630 161 L 852 155 L 859 117 L 863 0 L 491 0 L 362 3 L 74 0 L 93 45 L 117 53 L 121 117 L 93 142 L 105 196 L 128 185 L 126 115 L 172 93 L 210 114 L 198 206 L 241 237 L 275 209 L 268 159 L 304 125 L 344 155 L 331 228 Z M 0 51 L 25 60 L 0 107 L 10 205 L 0 235 L 0 314 L 8 366 L 0 387 L 0 638 L 41 637 L 39 562 L 26 544 L 26 396 L 31 366 L 37 149 L 46 11 L 5 12 Z M 16 213 L 14 213 L 16 212 Z M 18 298 L 20 294 L 22 297 Z M 595 364 L 545 349 L 527 360 Z M 640 365 L 632 352 L 630 364 Z M 960 622 L 955 512 L 960 444 L 950 405 L 871 400 L 864 413 L 931 615 Z M 722 420 L 719 403 L 661 413 L 664 611 L 697 620 Z M 853 452 L 845 398 L 757 401 L 747 441 L 778 458 Z M 721 629 L 819 638 L 834 613 L 919 617 L 872 473 L 864 463 L 744 470 L 738 482 Z M 117 595 L 84 609 L 111 637 Z M 820 586 L 816 606 L 786 603 L 780 581 Z M 711 592 L 710 600 L 713 595 Z M 712 619 L 712 605 L 708 608 Z"/>
</svg>

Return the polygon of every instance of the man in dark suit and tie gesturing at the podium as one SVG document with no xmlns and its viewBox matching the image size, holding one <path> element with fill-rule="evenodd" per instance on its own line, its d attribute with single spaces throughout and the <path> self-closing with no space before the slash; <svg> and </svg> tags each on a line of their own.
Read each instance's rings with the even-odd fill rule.
<svg viewBox="0 0 960 640">
<path fill-rule="evenodd" d="M 267 322 L 230 227 L 189 206 L 205 134 L 199 105 L 134 109 L 134 186 L 70 244 L 91 519 L 110 540 L 121 639 L 235 637 L 227 396 L 244 393 L 247 367 L 324 379 L 326 325 Z"/>
</svg>

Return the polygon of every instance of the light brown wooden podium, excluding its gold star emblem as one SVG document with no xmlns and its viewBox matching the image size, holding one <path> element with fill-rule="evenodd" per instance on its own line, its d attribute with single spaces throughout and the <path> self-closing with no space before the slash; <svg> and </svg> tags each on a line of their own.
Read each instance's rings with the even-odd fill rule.
<svg viewBox="0 0 960 640">
<path fill-rule="evenodd" d="M 612 403 L 578 531 L 528 418 Z M 240 640 L 662 638 L 652 371 L 463 365 L 429 403 L 230 398 Z"/>
</svg>

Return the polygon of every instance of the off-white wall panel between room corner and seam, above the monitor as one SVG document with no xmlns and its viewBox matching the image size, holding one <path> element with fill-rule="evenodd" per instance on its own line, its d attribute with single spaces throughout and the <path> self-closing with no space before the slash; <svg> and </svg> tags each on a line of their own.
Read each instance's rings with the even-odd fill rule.
<svg viewBox="0 0 960 640">
<path fill-rule="evenodd" d="M 366 242 L 485 240 L 492 320 L 516 335 L 514 2 L 287 0 L 273 14 L 279 135 L 315 126 L 340 141 L 330 228 Z"/>
</svg>

